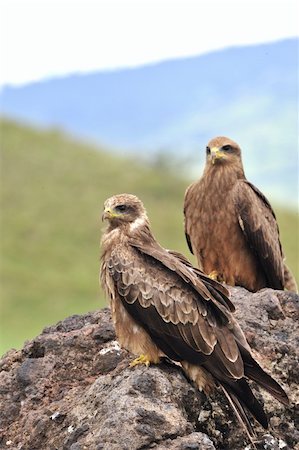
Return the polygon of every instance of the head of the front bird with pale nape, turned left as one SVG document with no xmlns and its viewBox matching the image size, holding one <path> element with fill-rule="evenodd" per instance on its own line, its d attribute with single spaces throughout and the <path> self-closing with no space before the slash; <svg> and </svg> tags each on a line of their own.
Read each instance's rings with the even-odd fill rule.
<svg viewBox="0 0 299 450">
<path fill-rule="evenodd" d="M 137 227 L 147 221 L 147 216 L 138 197 L 132 194 L 119 194 L 105 201 L 102 220 L 107 220 L 113 228 L 124 224 Z"/>
</svg>

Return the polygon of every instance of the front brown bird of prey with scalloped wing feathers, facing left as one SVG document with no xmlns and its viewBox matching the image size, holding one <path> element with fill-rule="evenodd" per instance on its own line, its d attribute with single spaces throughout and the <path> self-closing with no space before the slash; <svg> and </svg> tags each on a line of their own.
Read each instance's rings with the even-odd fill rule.
<svg viewBox="0 0 299 450">
<path fill-rule="evenodd" d="M 227 289 L 158 244 L 136 196 L 106 200 L 103 219 L 108 227 L 101 243 L 101 283 L 120 345 L 140 355 L 133 365 L 166 356 L 207 394 L 222 388 L 250 436 L 248 411 L 266 428 L 266 414 L 246 378 L 284 404 L 288 398 L 252 357 Z"/>
</svg>

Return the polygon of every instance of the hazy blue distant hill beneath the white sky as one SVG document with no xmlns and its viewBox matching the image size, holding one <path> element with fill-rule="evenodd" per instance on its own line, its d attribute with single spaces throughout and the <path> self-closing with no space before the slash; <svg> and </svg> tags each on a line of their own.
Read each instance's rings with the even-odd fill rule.
<svg viewBox="0 0 299 450">
<path fill-rule="evenodd" d="M 166 152 L 187 170 L 210 138 L 228 135 L 244 150 L 248 177 L 295 205 L 297 52 L 298 39 L 288 39 L 7 86 L 0 112 L 146 158 Z"/>
</svg>

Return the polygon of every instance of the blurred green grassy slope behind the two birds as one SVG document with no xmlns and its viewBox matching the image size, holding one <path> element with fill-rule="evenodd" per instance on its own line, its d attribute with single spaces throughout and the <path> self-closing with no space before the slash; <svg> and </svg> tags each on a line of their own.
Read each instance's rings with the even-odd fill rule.
<svg viewBox="0 0 299 450">
<path fill-rule="evenodd" d="M 9 121 L 1 122 L 1 153 L 1 353 L 67 315 L 105 304 L 98 270 L 108 196 L 138 195 L 159 241 L 188 255 L 182 224 L 188 183 L 165 168 Z M 277 215 L 294 270 L 298 222 L 289 211 Z"/>
</svg>

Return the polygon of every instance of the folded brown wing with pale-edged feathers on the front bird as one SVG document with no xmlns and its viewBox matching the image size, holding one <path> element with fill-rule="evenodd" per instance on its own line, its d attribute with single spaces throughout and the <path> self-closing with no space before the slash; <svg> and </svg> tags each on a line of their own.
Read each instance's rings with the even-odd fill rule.
<svg viewBox="0 0 299 450">
<path fill-rule="evenodd" d="M 224 377 L 243 376 L 238 344 L 229 329 L 230 313 L 217 300 L 207 301 L 174 268 L 136 245 L 126 254 L 113 252 L 108 267 L 123 305 L 167 356 L 193 364 L 209 358 L 209 366 L 215 361 Z"/>
</svg>

